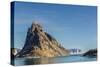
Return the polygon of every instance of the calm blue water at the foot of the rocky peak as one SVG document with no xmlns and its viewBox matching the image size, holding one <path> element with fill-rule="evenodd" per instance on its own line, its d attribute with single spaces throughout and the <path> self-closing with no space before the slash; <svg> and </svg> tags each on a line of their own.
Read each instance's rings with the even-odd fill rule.
<svg viewBox="0 0 100 67">
<path fill-rule="evenodd" d="M 67 62 L 96 61 L 96 57 L 83 57 L 80 55 L 55 57 L 55 58 L 16 58 L 15 65 L 54 64 Z"/>
</svg>

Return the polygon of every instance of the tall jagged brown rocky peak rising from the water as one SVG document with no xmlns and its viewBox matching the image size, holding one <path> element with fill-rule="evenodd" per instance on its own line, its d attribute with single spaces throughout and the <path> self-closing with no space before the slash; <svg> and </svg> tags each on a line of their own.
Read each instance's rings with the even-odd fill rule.
<svg viewBox="0 0 100 67">
<path fill-rule="evenodd" d="M 56 57 L 66 56 L 69 52 L 54 37 L 44 32 L 40 24 L 32 23 L 27 31 L 23 49 L 17 57 Z"/>
</svg>

